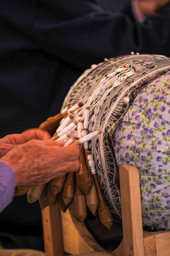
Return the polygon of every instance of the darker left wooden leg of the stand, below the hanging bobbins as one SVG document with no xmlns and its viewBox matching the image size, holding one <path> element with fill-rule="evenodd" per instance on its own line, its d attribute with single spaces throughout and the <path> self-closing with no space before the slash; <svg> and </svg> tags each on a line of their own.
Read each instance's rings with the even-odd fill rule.
<svg viewBox="0 0 170 256">
<path fill-rule="evenodd" d="M 42 227 L 46 256 L 63 256 L 63 234 L 58 203 L 42 210 Z"/>
</svg>

